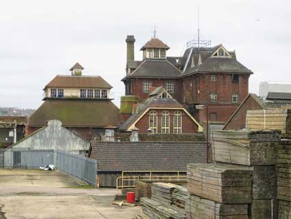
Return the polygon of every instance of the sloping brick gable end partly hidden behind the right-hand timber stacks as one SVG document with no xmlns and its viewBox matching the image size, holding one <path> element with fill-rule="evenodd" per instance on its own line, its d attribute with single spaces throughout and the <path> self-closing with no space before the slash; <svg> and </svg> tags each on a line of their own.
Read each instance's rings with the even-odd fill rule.
<svg viewBox="0 0 291 219">
<path fill-rule="evenodd" d="M 229 120 L 227 124 L 225 124 L 225 127 L 223 130 L 231 130 L 231 129 L 241 129 L 246 128 L 246 111 L 248 110 L 260 110 L 262 109 L 262 106 L 257 104 L 253 97 L 249 95 L 249 97 L 246 99 L 242 107 L 236 112 L 235 115 Z"/>
</svg>

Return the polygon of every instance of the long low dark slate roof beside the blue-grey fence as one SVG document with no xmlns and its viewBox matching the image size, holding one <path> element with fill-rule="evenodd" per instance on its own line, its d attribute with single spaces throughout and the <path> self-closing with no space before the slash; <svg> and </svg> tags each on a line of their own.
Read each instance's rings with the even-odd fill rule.
<svg viewBox="0 0 291 219">
<path fill-rule="evenodd" d="M 100 142 L 92 141 L 90 153 L 97 171 L 181 170 L 187 163 L 205 163 L 204 142 Z M 90 156 L 90 154 L 89 154 Z"/>
</svg>

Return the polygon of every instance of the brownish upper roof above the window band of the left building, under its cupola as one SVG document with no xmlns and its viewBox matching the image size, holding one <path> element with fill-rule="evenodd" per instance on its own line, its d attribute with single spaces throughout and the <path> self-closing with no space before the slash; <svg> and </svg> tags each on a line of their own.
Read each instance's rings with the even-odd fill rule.
<svg viewBox="0 0 291 219">
<path fill-rule="evenodd" d="M 47 87 L 69 87 L 69 88 L 104 88 L 111 89 L 112 86 L 108 84 L 101 76 L 55 76 Z"/>
</svg>

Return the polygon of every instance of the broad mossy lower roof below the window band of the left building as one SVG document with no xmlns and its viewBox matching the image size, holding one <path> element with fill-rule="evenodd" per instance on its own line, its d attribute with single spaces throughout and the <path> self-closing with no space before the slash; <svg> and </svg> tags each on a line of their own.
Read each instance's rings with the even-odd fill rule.
<svg viewBox="0 0 291 219">
<path fill-rule="evenodd" d="M 119 109 L 109 100 L 46 100 L 29 117 L 29 126 L 58 119 L 66 127 L 117 126 Z"/>
</svg>

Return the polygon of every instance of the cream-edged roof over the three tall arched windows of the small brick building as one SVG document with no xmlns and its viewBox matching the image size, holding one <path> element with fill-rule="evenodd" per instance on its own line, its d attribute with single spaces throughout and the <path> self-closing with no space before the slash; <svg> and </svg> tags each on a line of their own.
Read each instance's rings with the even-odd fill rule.
<svg viewBox="0 0 291 219">
<path fill-rule="evenodd" d="M 125 121 L 120 127 L 120 130 L 129 130 L 135 127 L 135 124 L 142 118 L 142 116 L 149 110 L 154 108 L 175 108 L 184 111 L 194 122 L 197 124 L 199 131 L 202 130 L 202 126 L 186 111 L 184 106 L 177 102 L 177 100 L 171 98 L 159 98 L 159 96 L 166 91 L 163 87 L 158 87 L 151 91 L 150 96 L 144 100 L 141 104 L 138 104 L 138 112 L 131 115 L 127 121 Z"/>
</svg>

